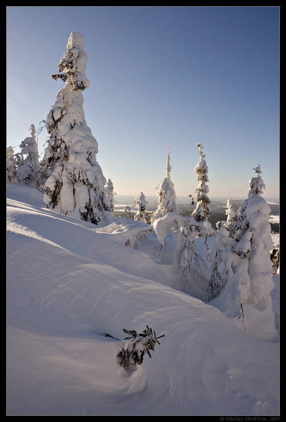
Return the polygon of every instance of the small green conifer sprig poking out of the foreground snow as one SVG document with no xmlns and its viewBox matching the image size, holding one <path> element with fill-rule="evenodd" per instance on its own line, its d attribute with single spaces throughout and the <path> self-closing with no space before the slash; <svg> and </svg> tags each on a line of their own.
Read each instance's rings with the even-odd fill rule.
<svg viewBox="0 0 286 422">
<path fill-rule="evenodd" d="M 159 343 L 158 339 L 164 337 L 156 337 L 155 331 L 152 332 L 152 329 L 146 325 L 147 330 L 144 330 L 143 333 L 137 334 L 135 330 L 125 330 L 124 333 L 128 334 L 128 337 L 125 338 L 125 342 L 122 350 L 117 355 L 121 358 L 120 366 L 123 366 L 126 369 L 129 364 L 141 365 L 143 362 L 143 357 L 147 353 L 149 358 L 151 358 L 150 350 L 154 350 L 155 344 Z"/>
</svg>

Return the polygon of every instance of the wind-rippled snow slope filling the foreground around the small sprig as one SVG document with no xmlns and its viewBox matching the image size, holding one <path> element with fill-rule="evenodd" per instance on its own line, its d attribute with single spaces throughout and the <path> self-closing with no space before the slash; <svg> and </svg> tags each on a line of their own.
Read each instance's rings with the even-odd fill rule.
<svg viewBox="0 0 286 422">
<path fill-rule="evenodd" d="M 120 243 L 146 224 L 65 217 L 28 186 L 7 198 L 7 415 L 279 414 L 279 344 L 184 292 L 152 236 Z M 146 325 L 165 337 L 124 370 L 115 338 Z"/>
</svg>

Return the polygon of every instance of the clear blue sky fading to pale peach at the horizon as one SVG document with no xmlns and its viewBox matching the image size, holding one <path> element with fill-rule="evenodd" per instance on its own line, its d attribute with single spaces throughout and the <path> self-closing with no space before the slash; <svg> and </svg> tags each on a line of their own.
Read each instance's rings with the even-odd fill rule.
<svg viewBox="0 0 286 422">
<path fill-rule="evenodd" d="M 120 195 L 156 195 L 170 144 L 178 196 L 246 198 L 261 166 L 279 197 L 279 7 L 7 6 L 7 146 L 40 127 L 63 86 L 51 78 L 71 32 L 87 53 L 85 120 Z M 41 158 L 48 139 L 39 134 Z"/>
</svg>

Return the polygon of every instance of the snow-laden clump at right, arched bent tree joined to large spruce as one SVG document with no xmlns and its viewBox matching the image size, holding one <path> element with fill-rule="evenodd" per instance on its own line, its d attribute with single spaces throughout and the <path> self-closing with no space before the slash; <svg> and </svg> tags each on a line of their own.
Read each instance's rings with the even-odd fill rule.
<svg viewBox="0 0 286 422">
<path fill-rule="evenodd" d="M 228 200 L 228 220 L 223 228 L 216 231 L 207 219 L 196 221 L 194 216 L 183 217 L 179 213 L 167 214 L 155 221 L 153 228 L 162 245 L 171 232 L 176 233 L 173 266 L 186 284 L 193 283 L 200 261 L 204 273 L 210 264 L 210 282 L 203 300 L 215 300 L 227 316 L 235 318 L 244 330 L 254 335 L 259 321 L 259 334 L 274 338 L 276 329 L 270 296 L 274 287 L 270 260 L 271 208 L 261 197 L 265 184 L 260 166 L 255 170 L 258 175 L 251 178 L 248 198 L 237 214 L 233 213 Z M 196 253 L 195 240 L 199 236 L 205 237 L 205 260 Z M 214 257 L 208 248 L 209 237 L 215 239 Z"/>
</svg>

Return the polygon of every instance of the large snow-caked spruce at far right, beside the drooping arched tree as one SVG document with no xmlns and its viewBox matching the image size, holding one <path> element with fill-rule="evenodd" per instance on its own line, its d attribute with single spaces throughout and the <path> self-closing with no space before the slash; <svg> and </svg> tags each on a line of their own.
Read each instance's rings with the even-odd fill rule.
<svg viewBox="0 0 286 422">
<path fill-rule="evenodd" d="M 270 251 L 273 248 L 270 206 L 261 197 L 265 184 L 258 173 L 249 182 L 248 199 L 240 218 L 231 230 L 235 245 L 222 251 L 225 263 L 225 290 L 215 299 L 228 316 L 236 317 L 241 326 L 254 336 L 275 339 L 274 313 L 270 292 L 274 287 Z"/>
</svg>

